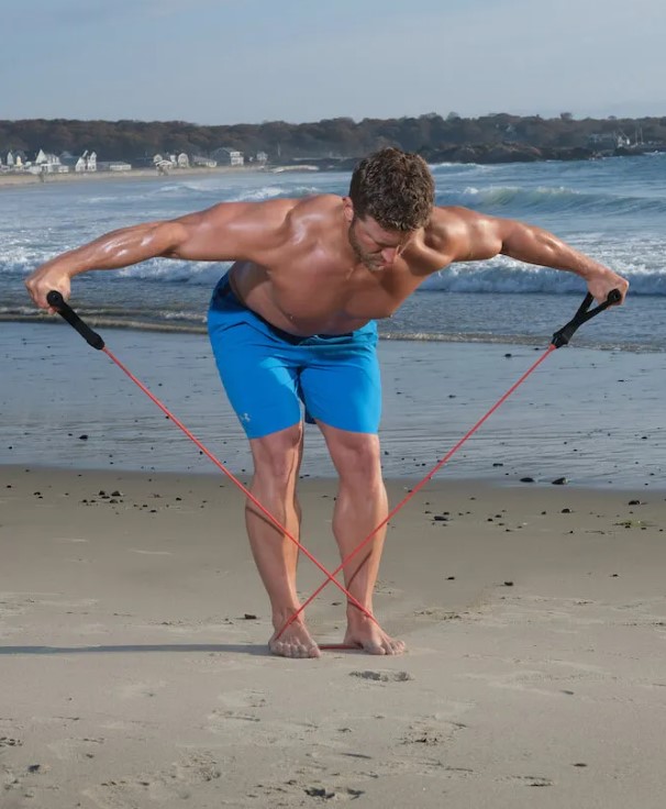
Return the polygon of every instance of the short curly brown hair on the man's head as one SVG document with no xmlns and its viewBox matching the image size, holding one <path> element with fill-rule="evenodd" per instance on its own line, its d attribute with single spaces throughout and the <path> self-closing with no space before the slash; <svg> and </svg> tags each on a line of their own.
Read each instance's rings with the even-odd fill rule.
<svg viewBox="0 0 666 809">
<path fill-rule="evenodd" d="M 349 199 L 356 217 L 373 217 L 385 230 L 415 231 L 430 220 L 435 184 L 422 157 L 389 146 L 356 166 Z"/>
</svg>

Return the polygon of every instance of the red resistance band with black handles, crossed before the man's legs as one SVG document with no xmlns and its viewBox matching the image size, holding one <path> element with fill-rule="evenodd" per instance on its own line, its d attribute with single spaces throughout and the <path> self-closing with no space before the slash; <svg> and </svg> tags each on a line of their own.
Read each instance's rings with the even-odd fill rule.
<svg viewBox="0 0 666 809">
<path fill-rule="evenodd" d="M 329 572 L 309 551 L 307 547 L 304 547 L 297 539 L 291 534 L 287 529 L 256 499 L 256 497 L 224 466 L 224 464 L 219 461 L 215 455 L 213 455 L 210 450 L 208 450 L 200 441 L 197 439 L 193 433 L 188 430 L 188 428 L 185 426 L 185 424 L 177 419 L 165 404 L 163 404 L 159 399 L 157 399 L 156 396 L 154 396 L 148 388 L 143 385 L 130 370 L 126 368 L 123 363 L 121 363 L 118 357 L 115 357 L 104 345 L 104 341 L 102 337 L 93 332 L 79 317 L 78 314 L 65 302 L 62 295 L 59 292 L 52 291 L 47 296 L 48 303 L 53 306 L 58 314 L 64 318 L 76 331 L 79 332 L 79 334 L 86 340 L 86 342 L 91 345 L 93 348 L 98 351 L 103 351 L 104 354 L 115 364 L 118 367 L 126 374 L 126 376 L 130 377 L 130 379 L 137 385 L 143 392 L 165 413 L 165 415 L 176 424 L 187 436 L 192 441 L 199 450 L 210 459 L 212 463 L 229 477 L 230 480 L 232 480 L 240 489 L 243 491 L 243 494 L 259 509 L 259 511 L 291 542 L 293 542 L 300 551 L 303 552 L 303 554 L 326 576 L 326 579 L 314 590 L 314 592 L 299 607 L 299 609 L 286 621 L 285 625 L 277 632 L 276 640 L 280 638 L 280 635 L 285 632 L 285 630 L 296 621 L 299 616 L 303 612 L 303 610 L 319 596 L 319 594 L 323 590 L 323 588 L 329 584 L 329 581 L 332 581 L 342 592 L 345 594 L 348 601 L 354 605 L 357 609 L 359 609 L 364 614 L 366 614 L 371 621 L 377 623 L 377 620 L 371 614 L 369 610 L 367 610 L 358 599 L 356 599 L 348 590 L 347 588 L 342 585 L 336 576 L 337 574 L 344 569 L 345 565 L 347 565 L 357 553 L 359 553 L 367 544 L 370 542 L 378 531 L 380 531 L 397 513 L 400 511 L 401 508 L 403 508 L 411 499 L 417 495 L 423 486 L 425 486 L 426 483 L 431 480 L 431 478 L 439 472 L 439 469 L 444 466 L 444 464 L 453 456 L 455 453 L 463 446 L 463 444 L 474 435 L 474 433 L 484 424 L 487 419 L 492 415 L 492 413 L 501 406 L 504 401 L 513 394 L 513 391 L 519 388 L 524 380 L 543 363 L 543 361 L 556 348 L 559 348 L 563 345 L 566 345 L 570 337 L 573 336 L 574 332 L 580 326 L 582 323 L 587 322 L 595 315 L 599 314 L 599 312 L 602 312 L 604 309 L 607 309 L 609 306 L 613 303 L 618 303 L 621 300 L 621 295 L 618 290 L 613 289 L 609 292 L 607 300 L 603 303 L 600 303 L 596 309 L 589 310 L 589 307 L 592 302 L 592 296 L 588 293 L 585 297 L 585 300 L 578 308 L 578 311 L 576 312 L 575 317 L 566 323 L 562 329 L 559 329 L 555 334 L 553 335 L 553 339 L 551 341 L 551 344 L 545 350 L 545 352 L 539 357 L 539 359 L 532 364 L 530 368 L 520 377 L 520 379 L 514 383 L 509 390 L 500 398 L 498 401 L 488 410 L 488 412 L 482 415 L 475 424 L 471 426 L 465 435 L 446 453 L 446 455 L 439 461 L 435 466 L 431 469 L 431 472 L 425 475 L 425 477 L 422 478 L 409 492 L 406 497 L 402 498 L 402 500 L 393 507 L 387 514 L 387 517 L 375 528 L 370 533 L 349 553 L 347 556 L 345 556 L 340 565 L 333 570 Z M 321 649 L 354 649 L 355 646 L 346 646 L 344 644 L 330 644 L 330 645 L 321 645 Z"/>
</svg>

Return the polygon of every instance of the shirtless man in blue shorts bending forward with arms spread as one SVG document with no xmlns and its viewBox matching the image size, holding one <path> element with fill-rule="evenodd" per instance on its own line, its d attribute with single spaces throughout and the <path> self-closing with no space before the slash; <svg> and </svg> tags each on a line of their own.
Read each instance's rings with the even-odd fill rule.
<svg viewBox="0 0 666 809">
<path fill-rule="evenodd" d="M 38 307 L 49 309 L 47 292 L 67 299 L 70 279 L 87 270 L 155 256 L 235 262 L 213 293 L 209 332 L 249 440 L 252 492 L 299 538 L 302 401 L 340 478 L 333 533 L 345 558 L 387 514 L 375 320 L 391 315 L 425 278 L 453 262 L 500 253 L 575 273 L 598 301 L 611 289 L 624 299 L 629 286 L 539 228 L 464 208 L 435 208 L 426 164 L 385 148 L 358 164 L 347 197 L 223 202 L 173 221 L 124 228 L 47 262 L 26 287 Z M 318 657 L 302 614 L 280 633 L 300 606 L 297 546 L 252 503 L 246 525 L 270 599 L 271 652 Z M 384 540 L 379 531 L 344 570 L 347 589 L 370 616 Z M 404 649 L 354 605 L 347 606 L 345 643 L 370 654 Z"/>
</svg>

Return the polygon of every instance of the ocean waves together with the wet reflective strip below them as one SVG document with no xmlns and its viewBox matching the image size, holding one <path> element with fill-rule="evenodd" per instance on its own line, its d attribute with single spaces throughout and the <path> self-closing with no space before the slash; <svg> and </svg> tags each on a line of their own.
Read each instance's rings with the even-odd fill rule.
<svg viewBox="0 0 666 809">
<path fill-rule="evenodd" d="M 631 282 L 625 306 L 585 324 L 439 474 L 665 488 L 666 154 L 433 173 L 440 204 L 546 228 Z M 223 200 L 345 193 L 348 180 L 247 173 L 0 186 L 0 463 L 214 472 L 108 357 L 34 309 L 23 279 L 115 228 Z M 244 474 L 247 442 L 204 336 L 224 270 L 154 259 L 90 273 L 76 279 L 71 303 L 227 468 Z M 576 276 L 500 256 L 431 277 L 381 321 L 387 476 L 425 475 L 532 365 L 585 292 Z M 314 428 L 302 472 L 334 475 Z"/>
</svg>

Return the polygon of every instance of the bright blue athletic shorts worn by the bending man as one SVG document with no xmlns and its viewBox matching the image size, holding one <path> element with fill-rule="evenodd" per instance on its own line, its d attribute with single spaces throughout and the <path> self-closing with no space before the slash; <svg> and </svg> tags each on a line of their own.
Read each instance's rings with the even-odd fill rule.
<svg viewBox="0 0 666 809">
<path fill-rule="evenodd" d="M 213 292 L 208 331 L 218 370 L 248 439 L 313 419 L 376 433 L 381 415 L 377 324 L 349 334 L 298 337 L 268 323 L 233 293 Z"/>
</svg>

